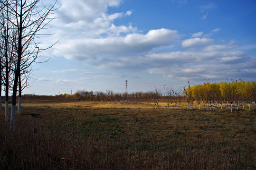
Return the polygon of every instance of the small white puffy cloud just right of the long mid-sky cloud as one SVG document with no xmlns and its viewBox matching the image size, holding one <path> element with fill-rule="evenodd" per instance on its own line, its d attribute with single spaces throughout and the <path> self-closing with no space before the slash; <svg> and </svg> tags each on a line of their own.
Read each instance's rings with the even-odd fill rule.
<svg viewBox="0 0 256 170">
<path fill-rule="evenodd" d="M 209 38 L 191 38 L 191 39 L 182 41 L 181 47 L 189 48 L 194 46 L 209 45 L 213 42 L 214 40 Z"/>
</svg>

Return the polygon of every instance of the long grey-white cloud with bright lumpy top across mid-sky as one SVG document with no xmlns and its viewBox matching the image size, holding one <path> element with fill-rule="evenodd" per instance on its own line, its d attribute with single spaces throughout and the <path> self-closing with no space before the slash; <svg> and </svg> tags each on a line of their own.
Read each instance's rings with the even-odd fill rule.
<svg viewBox="0 0 256 170">
<path fill-rule="evenodd" d="M 66 59 L 85 60 L 111 54 L 123 55 L 134 52 L 147 52 L 153 48 L 168 45 L 180 37 L 177 31 L 169 29 L 150 30 L 147 34 L 127 34 L 106 38 L 73 39 L 56 46 L 57 55 Z"/>
</svg>

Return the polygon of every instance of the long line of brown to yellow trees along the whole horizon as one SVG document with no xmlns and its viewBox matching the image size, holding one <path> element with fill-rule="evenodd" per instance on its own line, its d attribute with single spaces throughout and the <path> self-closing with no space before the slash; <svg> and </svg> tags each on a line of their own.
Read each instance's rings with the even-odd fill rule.
<svg viewBox="0 0 256 170">
<path fill-rule="evenodd" d="M 35 95 L 24 94 L 25 101 L 56 101 L 56 102 L 107 102 L 107 101 L 134 101 L 134 102 L 167 102 L 168 107 L 173 104 L 179 106 L 181 102 L 187 102 L 189 105 L 194 103 L 251 103 L 255 104 L 256 100 L 256 82 L 232 81 L 222 83 L 204 83 L 202 85 L 188 85 L 175 90 L 173 85 L 164 85 L 155 87 L 148 92 L 133 93 L 114 93 L 112 90 L 85 91 L 77 90 L 74 94 L 59 95 Z"/>
</svg>

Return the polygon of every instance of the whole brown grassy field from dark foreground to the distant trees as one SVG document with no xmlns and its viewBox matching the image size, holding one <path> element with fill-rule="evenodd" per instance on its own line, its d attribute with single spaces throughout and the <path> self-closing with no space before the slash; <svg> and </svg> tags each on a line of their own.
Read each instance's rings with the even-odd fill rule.
<svg viewBox="0 0 256 170">
<path fill-rule="evenodd" d="M 15 135 L 2 109 L 0 169 L 256 169 L 252 110 L 152 105 L 24 102 Z"/>
</svg>

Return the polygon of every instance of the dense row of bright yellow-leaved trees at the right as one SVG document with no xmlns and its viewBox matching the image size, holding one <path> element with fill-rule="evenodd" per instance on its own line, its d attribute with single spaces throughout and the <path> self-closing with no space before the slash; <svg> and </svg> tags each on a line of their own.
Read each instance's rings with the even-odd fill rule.
<svg viewBox="0 0 256 170">
<path fill-rule="evenodd" d="M 237 109 L 238 105 L 245 102 L 251 102 L 255 105 L 256 96 L 256 82 L 244 82 L 244 81 L 226 81 L 224 83 L 204 83 L 203 85 L 190 85 L 186 88 L 183 87 L 183 94 L 186 96 L 188 106 L 193 101 L 204 102 L 208 110 L 215 109 L 217 102 L 222 104 L 227 102 L 227 106 Z"/>
</svg>

